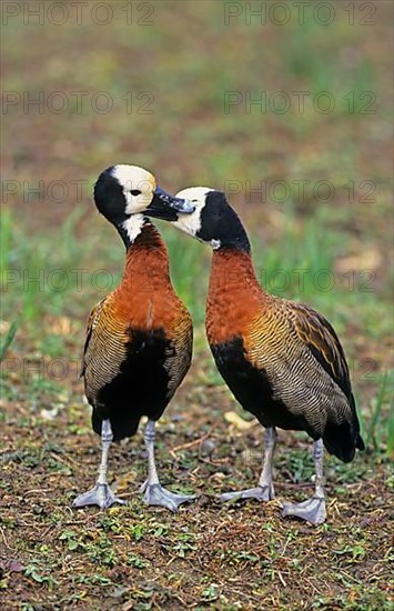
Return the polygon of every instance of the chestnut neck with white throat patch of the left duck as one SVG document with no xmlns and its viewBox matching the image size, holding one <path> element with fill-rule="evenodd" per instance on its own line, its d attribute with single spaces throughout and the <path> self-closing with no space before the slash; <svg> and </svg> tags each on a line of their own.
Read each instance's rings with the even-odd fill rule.
<svg viewBox="0 0 394 611">
<path fill-rule="evenodd" d="M 122 239 L 127 247 L 122 289 L 143 293 L 171 287 L 169 253 L 158 229 L 142 214 L 125 231 Z"/>
</svg>

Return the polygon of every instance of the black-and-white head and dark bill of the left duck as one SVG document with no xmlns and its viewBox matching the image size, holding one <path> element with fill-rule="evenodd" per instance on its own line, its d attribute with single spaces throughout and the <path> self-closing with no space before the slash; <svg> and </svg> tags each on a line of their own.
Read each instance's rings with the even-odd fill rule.
<svg viewBox="0 0 394 611">
<path fill-rule="evenodd" d="M 176 212 L 190 213 L 194 207 L 158 187 L 151 172 L 138 166 L 120 163 L 104 170 L 94 186 L 94 202 L 99 212 L 118 228 L 133 214 L 152 212 L 176 220 Z"/>
</svg>

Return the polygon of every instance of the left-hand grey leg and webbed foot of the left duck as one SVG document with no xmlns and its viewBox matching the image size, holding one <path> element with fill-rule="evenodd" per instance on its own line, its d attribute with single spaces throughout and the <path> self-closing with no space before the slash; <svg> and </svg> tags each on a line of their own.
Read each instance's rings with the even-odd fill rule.
<svg viewBox="0 0 394 611">
<path fill-rule="evenodd" d="M 101 453 L 101 463 L 99 467 L 99 478 L 98 481 L 89 492 L 80 494 L 73 501 L 72 507 L 88 507 L 88 505 L 98 505 L 100 509 L 107 509 L 113 503 L 124 504 L 125 501 L 119 499 L 111 490 L 107 480 L 108 471 L 108 452 L 113 439 L 111 423 L 109 420 L 103 420 L 101 425 L 101 442 L 102 442 L 102 453 Z"/>
</svg>

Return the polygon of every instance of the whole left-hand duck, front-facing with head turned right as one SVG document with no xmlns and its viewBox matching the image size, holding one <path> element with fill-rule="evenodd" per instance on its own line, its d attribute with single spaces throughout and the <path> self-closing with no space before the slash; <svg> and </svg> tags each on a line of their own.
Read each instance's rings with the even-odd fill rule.
<svg viewBox="0 0 394 611">
<path fill-rule="evenodd" d="M 175 511 L 195 497 L 161 487 L 154 428 L 189 370 L 193 328 L 171 284 L 165 243 L 142 212 L 148 209 L 160 217 L 165 203 L 166 214 L 175 219 L 176 210 L 186 213 L 194 208 L 156 187 L 147 170 L 125 164 L 100 174 L 94 201 L 115 227 L 127 252 L 120 286 L 93 308 L 88 322 L 81 375 L 92 407 L 92 428 L 101 435 L 102 457 L 95 487 L 79 495 L 73 507 L 105 509 L 124 502 L 108 484 L 109 448 L 113 440 L 134 435 L 141 417 L 147 415 L 144 501 Z"/>
</svg>

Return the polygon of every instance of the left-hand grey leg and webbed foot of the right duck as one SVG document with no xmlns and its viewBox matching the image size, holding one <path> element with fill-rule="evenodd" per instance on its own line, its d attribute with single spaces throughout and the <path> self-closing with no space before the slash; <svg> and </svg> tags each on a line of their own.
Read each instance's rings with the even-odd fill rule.
<svg viewBox="0 0 394 611">
<path fill-rule="evenodd" d="M 274 499 L 275 492 L 272 483 L 272 462 L 276 445 L 275 427 L 269 427 L 265 432 L 263 469 L 256 488 L 240 490 L 239 492 L 226 492 L 220 495 L 221 501 L 232 499 L 257 499 L 259 501 L 270 501 Z"/>
</svg>

